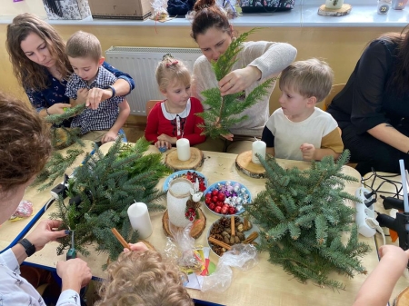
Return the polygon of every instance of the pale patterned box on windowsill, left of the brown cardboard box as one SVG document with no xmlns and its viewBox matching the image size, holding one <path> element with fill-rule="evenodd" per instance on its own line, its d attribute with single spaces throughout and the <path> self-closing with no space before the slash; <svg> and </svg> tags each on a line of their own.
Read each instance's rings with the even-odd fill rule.
<svg viewBox="0 0 409 306">
<path fill-rule="evenodd" d="M 48 19 L 82 20 L 91 17 L 87 0 L 59 0 L 55 7 L 44 5 Z"/>
</svg>

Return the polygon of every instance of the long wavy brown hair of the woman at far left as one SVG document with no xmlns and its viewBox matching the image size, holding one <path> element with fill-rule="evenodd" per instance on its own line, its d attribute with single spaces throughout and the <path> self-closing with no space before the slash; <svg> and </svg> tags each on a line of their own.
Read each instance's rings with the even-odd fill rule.
<svg viewBox="0 0 409 306">
<path fill-rule="evenodd" d="M 7 25 L 5 41 L 10 62 L 13 64 L 13 73 L 18 82 L 23 87 L 36 91 L 43 90 L 50 85 L 48 84 L 46 68 L 30 60 L 21 49 L 21 42 L 32 33 L 45 41 L 50 54 L 55 58 L 58 72 L 63 74 L 65 80 L 68 80 L 73 73 L 73 68 L 65 54 L 63 38 L 44 20 L 36 15 L 25 13 L 15 16 L 12 24 Z"/>
</svg>

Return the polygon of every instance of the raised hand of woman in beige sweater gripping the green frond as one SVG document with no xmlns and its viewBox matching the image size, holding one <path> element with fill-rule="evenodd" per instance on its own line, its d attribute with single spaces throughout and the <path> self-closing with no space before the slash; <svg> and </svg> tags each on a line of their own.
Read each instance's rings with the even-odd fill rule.
<svg viewBox="0 0 409 306">
<path fill-rule="evenodd" d="M 220 94 L 235 94 L 244 91 L 261 78 L 261 71 L 254 66 L 236 69 L 219 81 Z"/>
</svg>

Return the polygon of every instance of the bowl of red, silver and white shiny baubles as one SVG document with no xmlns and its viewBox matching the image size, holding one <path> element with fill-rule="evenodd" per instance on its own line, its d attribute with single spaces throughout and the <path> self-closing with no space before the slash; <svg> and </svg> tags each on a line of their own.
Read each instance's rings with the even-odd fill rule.
<svg viewBox="0 0 409 306">
<path fill-rule="evenodd" d="M 244 212 L 244 204 L 252 202 L 252 196 L 242 183 L 219 181 L 204 192 L 205 205 L 219 216 L 237 215 Z"/>
</svg>

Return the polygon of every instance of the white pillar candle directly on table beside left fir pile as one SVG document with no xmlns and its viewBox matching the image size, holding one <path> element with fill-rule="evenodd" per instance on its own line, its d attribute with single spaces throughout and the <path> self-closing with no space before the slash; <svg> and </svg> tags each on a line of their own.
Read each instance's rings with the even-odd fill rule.
<svg viewBox="0 0 409 306">
<path fill-rule="evenodd" d="M 128 217 L 132 228 L 139 232 L 139 238 L 145 239 L 152 234 L 152 223 L 144 202 L 135 202 L 128 207 Z"/>
</svg>

